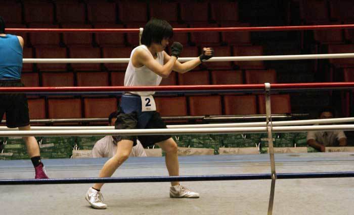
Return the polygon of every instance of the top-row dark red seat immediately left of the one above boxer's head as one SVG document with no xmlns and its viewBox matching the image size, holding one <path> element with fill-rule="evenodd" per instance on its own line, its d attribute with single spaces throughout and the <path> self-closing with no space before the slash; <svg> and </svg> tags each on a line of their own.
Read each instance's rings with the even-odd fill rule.
<svg viewBox="0 0 354 215">
<path fill-rule="evenodd" d="M 122 23 L 148 21 L 147 3 L 135 0 L 122 0 L 118 2 L 118 15 Z"/>
</svg>

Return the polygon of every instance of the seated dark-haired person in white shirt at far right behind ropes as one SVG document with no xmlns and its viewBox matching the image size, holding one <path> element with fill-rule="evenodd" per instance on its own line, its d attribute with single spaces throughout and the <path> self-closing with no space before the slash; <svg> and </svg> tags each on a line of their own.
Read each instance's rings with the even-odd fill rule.
<svg viewBox="0 0 354 215">
<path fill-rule="evenodd" d="M 324 108 L 320 112 L 320 119 L 333 117 L 332 108 Z M 343 131 L 309 131 L 307 132 L 307 144 L 321 152 L 326 152 L 326 147 L 345 147 L 346 136 Z"/>
</svg>

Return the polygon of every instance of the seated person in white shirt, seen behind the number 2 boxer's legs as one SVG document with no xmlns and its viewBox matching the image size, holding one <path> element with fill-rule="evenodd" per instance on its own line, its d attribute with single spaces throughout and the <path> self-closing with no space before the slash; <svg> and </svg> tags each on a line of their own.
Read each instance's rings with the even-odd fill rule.
<svg viewBox="0 0 354 215">
<path fill-rule="evenodd" d="M 117 119 L 117 111 L 111 113 L 108 117 L 108 125 L 114 126 Z M 117 141 L 113 136 L 105 136 L 98 140 L 92 150 L 94 158 L 112 158 L 117 152 Z M 132 148 L 129 157 L 146 157 L 143 145 L 137 140 L 137 145 Z"/>
</svg>

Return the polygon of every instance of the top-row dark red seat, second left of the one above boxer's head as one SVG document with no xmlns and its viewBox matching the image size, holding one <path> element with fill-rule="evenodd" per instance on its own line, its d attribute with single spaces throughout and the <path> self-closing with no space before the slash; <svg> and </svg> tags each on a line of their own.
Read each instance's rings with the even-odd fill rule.
<svg viewBox="0 0 354 215">
<path fill-rule="evenodd" d="M 116 4 L 113 2 L 90 1 L 87 3 L 87 18 L 91 23 L 116 23 Z"/>
</svg>

